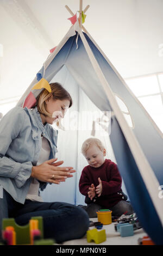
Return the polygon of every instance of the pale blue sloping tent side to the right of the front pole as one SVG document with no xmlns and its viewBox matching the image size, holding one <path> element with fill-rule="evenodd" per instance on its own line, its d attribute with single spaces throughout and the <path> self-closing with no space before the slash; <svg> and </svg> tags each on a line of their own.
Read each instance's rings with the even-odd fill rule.
<svg viewBox="0 0 163 256">
<path fill-rule="evenodd" d="M 115 74 L 108 62 L 102 54 L 97 50 L 97 47 L 85 34 L 87 42 L 89 43 L 94 56 L 101 67 L 106 80 L 109 82 L 110 87 L 114 93 L 120 95 L 126 103 L 131 117 L 134 121 L 134 134 L 138 139 L 143 152 L 145 153 L 156 177 L 163 184 L 162 166 L 163 166 L 163 140 L 160 134 L 156 131 L 151 120 L 145 114 L 145 109 L 135 101 L 134 97 L 130 94 L 129 90 L 120 81 L 120 78 Z M 149 147 L 151 145 L 151 148 Z"/>
</svg>

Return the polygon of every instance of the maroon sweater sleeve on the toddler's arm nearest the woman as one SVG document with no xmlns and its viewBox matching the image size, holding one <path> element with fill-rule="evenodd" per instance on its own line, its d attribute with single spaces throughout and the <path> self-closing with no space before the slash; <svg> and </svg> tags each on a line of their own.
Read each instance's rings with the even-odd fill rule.
<svg viewBox="0 0 163 256">
<path fill-rule="evenodd" d="M 87 196 L 87 192 L 89 191 L 89 187 L 91 187 L 92 182 L 90 182 L 89 176 L 87 175 L 87 169 L 84 167 L 82 171 L 82 175 L 79 180 L 79 191 L 80 193 Z"/>
</svg>

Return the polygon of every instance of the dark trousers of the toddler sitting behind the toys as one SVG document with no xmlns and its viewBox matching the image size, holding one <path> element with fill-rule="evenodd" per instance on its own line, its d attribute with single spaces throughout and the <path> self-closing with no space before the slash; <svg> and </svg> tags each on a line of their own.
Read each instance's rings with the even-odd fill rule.
<svg viewBox="0 0 163 256">
<path fill-rule="evenodd" d="M 99 211 L 101 209 L 106 209 L 106 207 L 102 205 L 98 205 L 96 203 L 90 203 L 90 204 L 87 204 L 87 209 L 85 210 L 87 211 L 87 214 L 89 215 L 90 218 L 97 218 L 96 211 Z M 118 216 L 118 217 L 124 213 L 126 215 L 131 215 L 134 213 L 134 210 L 131 204 L 124 200 L 118 202 L 116 205 L 112 207 L 109 207 L 109 210 L 112 211 L 111 213 L 112 216 Z"/>
</svg>

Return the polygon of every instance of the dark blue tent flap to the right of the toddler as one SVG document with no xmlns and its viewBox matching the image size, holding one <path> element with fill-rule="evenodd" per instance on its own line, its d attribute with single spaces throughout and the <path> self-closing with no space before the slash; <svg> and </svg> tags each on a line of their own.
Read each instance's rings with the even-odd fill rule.
<svg viewBox="0 0 163 256">
<path fill-rule="evenodd" d="M 161 222 L 115 117 L 111 119 L 110 139 L 131 205 L 133 205 L 137 217 L 147 234 L 156 245 L 162 245 L 163 229 Z"/>
</svg>

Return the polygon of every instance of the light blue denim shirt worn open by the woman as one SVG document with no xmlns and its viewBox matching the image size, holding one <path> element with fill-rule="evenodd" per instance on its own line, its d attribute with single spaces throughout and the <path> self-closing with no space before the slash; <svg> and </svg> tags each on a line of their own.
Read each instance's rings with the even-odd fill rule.
<svg viewBox="0 0 163 256">
<path fill-rule="evenodd" d="M 37 107 L 14 107 L 0 121 L 0 185 L 22 204 L 32 181 L 32 166 L 39 160 L 41 133 L 51 148 L 49 159 L 55 158 L 58 130 L 42 124 Z M 46 185 L 40 182 L 41 190 Z"/>
</svg>

